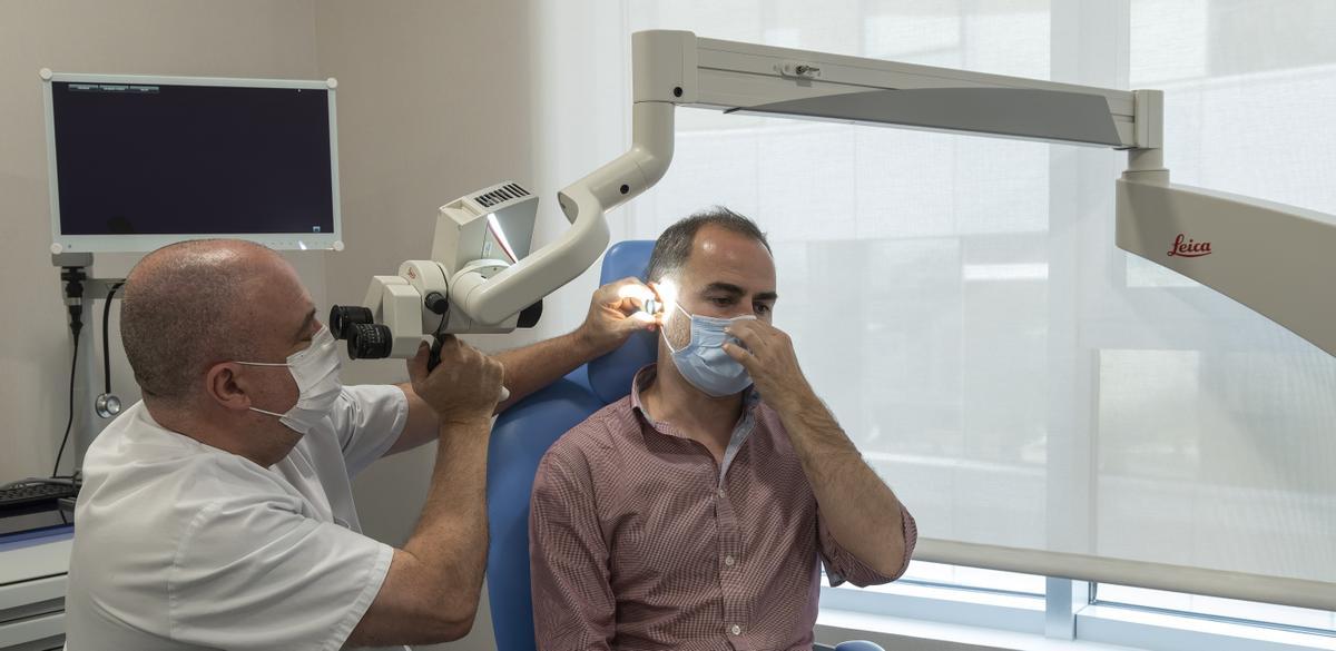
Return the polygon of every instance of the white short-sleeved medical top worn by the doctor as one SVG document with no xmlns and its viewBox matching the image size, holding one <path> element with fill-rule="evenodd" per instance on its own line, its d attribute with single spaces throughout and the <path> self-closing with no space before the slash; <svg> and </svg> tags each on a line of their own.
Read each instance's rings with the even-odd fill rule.
<svg viewBox="0 0 1336 651">
<path fill-rule="evenodd" d="M 126 410 L 84 458 L 65 648 L 341 648 L 394 554 L 361 534 L 350 478 L 406 419 L 398 388 L 347 387 L 263 468 Z"/>
</svg>

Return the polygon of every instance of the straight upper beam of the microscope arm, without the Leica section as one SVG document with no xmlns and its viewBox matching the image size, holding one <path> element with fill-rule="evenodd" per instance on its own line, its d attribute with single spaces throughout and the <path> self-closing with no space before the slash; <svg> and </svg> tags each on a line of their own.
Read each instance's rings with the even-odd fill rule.
<svg viewBox="0 0 1336 651">
<path fill-rule="evenodd" d="M 636 79 L 636 99 L 725 112 L 783 115 L 1035 139 L 1138 147 L 1129 91 L 985 75 L 751 43 L 691 32 L 640 32 L 653 53 L 684 68 L 681 95 Z M 637 67 L 659 69 L 664 65 Z M 660 73 L 663 76 L 663 73 Z"/>
</svg>

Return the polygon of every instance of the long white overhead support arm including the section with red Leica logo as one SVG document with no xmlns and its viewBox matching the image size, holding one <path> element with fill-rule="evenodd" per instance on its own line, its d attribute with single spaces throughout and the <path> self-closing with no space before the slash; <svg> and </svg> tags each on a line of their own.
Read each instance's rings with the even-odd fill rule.
<svg viewBox="0 0 1336 651">
<path fill-rule="evenodd" d="M 1329 253 L 1336 251 L 1336 219 L 1169 183 L 1160 91 L 1059 84 L 677 31 L 637 32 L 633 45 L 637 109 L 663 103 L 1126 149 L 1128 171 L 1117 184 L 1120 248 L 1212 287 L 1336 355 L 1336 292 L 1325 287 L 1336 277 L 1336 256 Z M 660 119 L 671 120 L 671 111 Z M 572 196 L 572 188 L 565 195 Z"/>
</svg>

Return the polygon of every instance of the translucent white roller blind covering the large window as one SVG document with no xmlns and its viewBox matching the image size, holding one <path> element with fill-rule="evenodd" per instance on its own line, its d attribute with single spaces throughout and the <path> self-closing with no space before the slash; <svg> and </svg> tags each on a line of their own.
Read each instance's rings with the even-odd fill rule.
<svg viewBox="0 0 1336 651">
<path fill-rule="evenodd" d="M 627 11 L 625 33 L 1161 88 L 1177 181 L 1336 212 L 1323 0 Z M 668 175 L 613 221 L 652 239 L 724 204 L 760 223 L 776 326 L 916 515 L 919 558 L 1333 610 L 1336 362 L 1116 249 L 1122 167 L 1118 152 L 680 109 Z"/>
</svg>

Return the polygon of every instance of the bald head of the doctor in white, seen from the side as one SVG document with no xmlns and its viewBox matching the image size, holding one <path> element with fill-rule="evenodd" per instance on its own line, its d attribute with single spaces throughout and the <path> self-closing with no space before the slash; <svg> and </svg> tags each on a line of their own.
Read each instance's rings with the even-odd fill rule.
<svg viewBox="0 0 1336 651">
<path fill-rule="evenodd" d="M 126 279 L 120 338 L 146 400 L 187 404 L 211 364 L 255 359 L 269 327 L 255 292 L 285 275 L 295 279 L 278 253 L 240 240 L 144 256 Z"/>
</svg>

